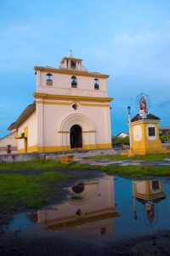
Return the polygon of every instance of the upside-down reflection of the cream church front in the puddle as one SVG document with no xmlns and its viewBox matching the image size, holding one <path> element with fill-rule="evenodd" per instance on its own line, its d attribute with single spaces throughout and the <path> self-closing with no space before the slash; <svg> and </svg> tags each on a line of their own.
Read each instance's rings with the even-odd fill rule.
<svg viewBox="0 0 170 256">
<path fill-rule="evenodd" d="M 37 211 L 37 221 L 50 230 L 74 230 L 103 235 L 114 231 L 115 212 L 113 177 L 80 182 L 68 188 L 69 200 L 50 209 Z"/>
</svg>

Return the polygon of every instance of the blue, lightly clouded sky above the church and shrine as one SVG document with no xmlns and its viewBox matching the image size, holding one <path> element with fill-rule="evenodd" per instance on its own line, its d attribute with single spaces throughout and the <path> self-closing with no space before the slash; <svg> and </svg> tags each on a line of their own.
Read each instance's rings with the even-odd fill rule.
<svg viewBox="0 0 170 256">
<path fill-rule="evenodd" d="M 58 68 L 70 49 L 88 72 L 110 75 L 112 136 L 128 131 L 141 93 L 170 126 L 169 0 L 1 0 L 0 137 L 35 100 L 33 68 Z"/>
</svg>

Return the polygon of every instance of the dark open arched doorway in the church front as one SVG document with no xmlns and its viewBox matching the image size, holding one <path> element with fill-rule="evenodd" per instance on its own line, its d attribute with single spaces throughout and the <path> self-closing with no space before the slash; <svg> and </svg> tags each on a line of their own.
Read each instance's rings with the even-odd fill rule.
<svg viewBox="0 0 170 256">
<path fill-rule="evenodd" d="M 71 126 L 71 148 L 82 148 L 82 128 L 80 125 Z"/>
</svg>

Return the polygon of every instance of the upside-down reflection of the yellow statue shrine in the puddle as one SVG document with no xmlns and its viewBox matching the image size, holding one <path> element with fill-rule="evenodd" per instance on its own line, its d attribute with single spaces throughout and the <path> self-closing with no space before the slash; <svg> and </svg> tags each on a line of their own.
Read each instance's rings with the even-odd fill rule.
<svg viewBox="0 0 170 256">
<path fill-rule="evenodd" d="M 156 221 L 156 204 L 166 198 L 163 192 L 163 184 L 157 179 L 146 179 L 142 181 L 133 180 L 133 210 L 134 218 L 138 218 L 136 200 L 145 207 L 146 222 L 154 224 Z"/>
</svg>

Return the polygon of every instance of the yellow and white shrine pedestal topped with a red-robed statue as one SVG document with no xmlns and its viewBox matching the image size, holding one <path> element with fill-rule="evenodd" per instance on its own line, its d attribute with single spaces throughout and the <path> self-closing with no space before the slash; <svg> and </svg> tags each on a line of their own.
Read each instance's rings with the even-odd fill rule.
<svg viewBox="0 0 170 256">
<path fill-rule="evenodd" d="M 149 113 L 144 94 L 139 97 L 139 113 L 130 119 L 129 137 L 130 150 L 133 154 L 157 154 L 167 153 L 166 148 L 161 147 L 158 124 L 161 119 Z"/>
</svg>

